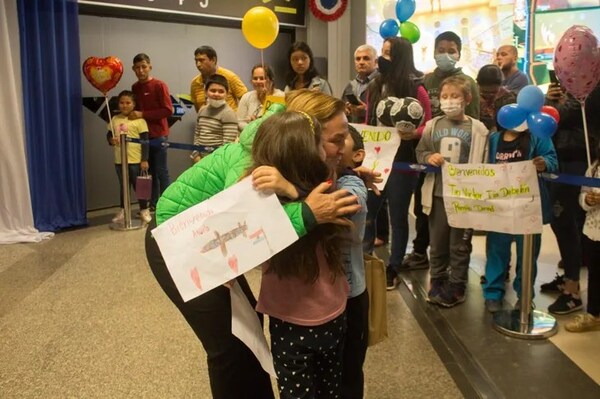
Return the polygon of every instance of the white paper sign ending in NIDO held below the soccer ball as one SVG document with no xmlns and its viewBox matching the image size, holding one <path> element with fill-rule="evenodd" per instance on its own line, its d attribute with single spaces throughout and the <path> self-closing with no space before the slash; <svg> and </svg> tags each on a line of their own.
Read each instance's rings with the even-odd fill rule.
<svg viewBox="0 0 600 399">
<path fill-rule="evenodd" d="M 378 189 L 383 190 L 387 179 L 392 172 L 394 157 L 400 146 L 400 134 L 396 128 L 387 126 L 369 126 L 351 124 L 365 142 L 365 160 L 363 166 L 381 173 L 383 181 L 375 184 Z"/>
</svg>

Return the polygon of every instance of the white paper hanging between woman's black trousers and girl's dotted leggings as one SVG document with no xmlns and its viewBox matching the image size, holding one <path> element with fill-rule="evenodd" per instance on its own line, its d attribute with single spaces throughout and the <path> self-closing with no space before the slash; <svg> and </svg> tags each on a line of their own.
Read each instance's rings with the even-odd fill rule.
<svg viewBox="0 0 600 399">
<path fill-rule="evenodd" d="M 231 333 L 254 353 L 267 373 L 277 378 L 273 356 L 260 320 L 237 282 L 231 288 Z"/>
</svg>

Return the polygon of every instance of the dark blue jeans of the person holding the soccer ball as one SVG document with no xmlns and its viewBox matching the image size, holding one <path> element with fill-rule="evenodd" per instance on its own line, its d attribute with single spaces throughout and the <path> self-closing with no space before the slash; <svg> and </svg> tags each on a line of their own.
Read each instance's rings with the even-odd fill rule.
<svg viewBox="0 0 600 399">
<path fill-rule="evenodd" d="M 381 196 L 378 197 L 372 191 L 369 191 L 369 197 L 367 198 L 367 222 L 363 249 L 366 253 L 373 253 L 377 232 L 377 214 L 381 209 L 384 198 L 387 198 L 390 224 L 392 225 L 390 266 L 394 268 L 400 267 L 406 254 L 409 234 L 408 208 L 418 178 L 419 175 L 413 173 L 392 172 Z"/>
</svg>

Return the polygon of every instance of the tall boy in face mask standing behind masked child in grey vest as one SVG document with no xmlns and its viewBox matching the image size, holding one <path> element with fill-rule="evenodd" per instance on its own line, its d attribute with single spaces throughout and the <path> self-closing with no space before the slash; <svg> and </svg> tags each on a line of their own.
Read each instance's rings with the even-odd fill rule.
<svg viewBox="0 0 600 399">
<path fill-rule="evenodd" d="M 468 80 L 471 87 L 470 96 L 472 100 L 466 106 L 465 113 L 472 118 L 479 119 L 479 88 L 473 78 L 465 75 L 462 68 L 456 66 L 456 63 L 460 60 L 461 50 L 462 41 L 454 32 L 442 32 L 435 38 L 434 57 L 437 68 L 423 78 L 423 86 L 429 93 L 431 114 L 434 117 L 442 115 L 440 83 L 450 76 L 460 76 Z"/>
</svg>

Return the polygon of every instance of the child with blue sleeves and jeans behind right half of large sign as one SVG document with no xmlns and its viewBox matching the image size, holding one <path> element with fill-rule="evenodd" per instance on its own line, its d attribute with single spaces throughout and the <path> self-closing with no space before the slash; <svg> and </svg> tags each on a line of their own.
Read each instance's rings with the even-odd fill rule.
<svg viewBox="0 0 600 399">
<path fill-rule="evenodd" d="M 556 172 L 558 160 L 552 140 L 539 138 L 532 135 L 529 130 L 518 132 L 515 130 L 501 130 L 490 135 L 490 163 L 508 163 L 532 160 L 538 172 Z M 549 193 L 541 179 L 540 195 L 542 200 L 542 213 L 544 223 L 550 223 L 551 209 Z M 523 235 L 513 235 L 490 231 L 487 233 L 485 280 L 483 296 L 485 307 L 491 312 L 502 309 L 504 298 L 504 280 L 510 264 L 510 248 L 513 241 L 517 243 L 517 268 L 513 288 L 517 295 L 521 295 L 521 267 L 523 264 Z M 533 235 L 533 278 L 532 290 L 537 273 L 537 258 L 542 242 L 541 234 Z M 520 300 L 515 308 L 520 306 Z"/>
</svg>

